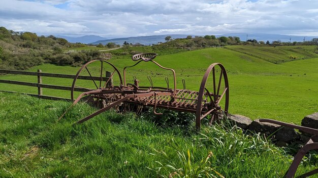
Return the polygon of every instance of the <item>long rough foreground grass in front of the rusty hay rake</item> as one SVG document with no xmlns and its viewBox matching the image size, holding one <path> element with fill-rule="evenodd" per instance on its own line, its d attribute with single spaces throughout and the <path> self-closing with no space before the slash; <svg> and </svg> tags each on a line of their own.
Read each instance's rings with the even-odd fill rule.
<svg viewBox="0 0 318 178">
<path fill-rule="evenodd" d="M 106 112 L 78 125 L 94 111 L 0 92 L 0 177 L 281 177 L 291 156 L 260 136 L 215 125 L 159 127 L 146 116 Z M 314 157 L 314 156 L 313 156 Z M 311 164 L 311 165 L 310 165 Z M 304 160 L 298 174 L 312 168 Z M 187 173 L 186 173 L 187 172 Z M 186 174 L 185 174 L 186 173 Z"/>
</svg>

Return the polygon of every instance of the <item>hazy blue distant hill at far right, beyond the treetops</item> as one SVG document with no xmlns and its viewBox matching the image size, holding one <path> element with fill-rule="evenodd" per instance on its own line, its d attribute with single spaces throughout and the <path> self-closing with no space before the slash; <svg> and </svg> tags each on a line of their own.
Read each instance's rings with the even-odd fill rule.
<svg viewBox="0 0 318 178">
<path fill-rule="evenodd" d="M 294 35 L 283 35 L 283 34 L 264 34 L 264 33 L 226 33 L 222 35 L 215 35 L 216 37 L 219 36 L 237 36 L 240 37 L 241 41 L 246 41 L 246 35 L 247 39 L 256 39 L 258 41 L 264 41 L 267 40 L 269 42 L 280 40 L 281 42 L 289 42 L 291 39 L 291 42 L 297 41 L 302 42 L 304 41 L 311 41 L 312 38 L 318 38 L 317 36 L 294 36 Z"/>
</svg>

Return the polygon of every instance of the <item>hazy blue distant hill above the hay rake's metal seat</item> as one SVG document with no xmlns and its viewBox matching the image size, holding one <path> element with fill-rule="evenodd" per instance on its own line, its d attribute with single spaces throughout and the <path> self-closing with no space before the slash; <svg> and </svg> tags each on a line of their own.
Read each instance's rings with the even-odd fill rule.
<svg viewBox="0 0 318 178">
<path fill-rule="evenodd" d="M 158 42 L 165 42 L 165 37 L 171 36 L 173 38 L 185 38 L 186 34 L 167 34 L 167 35 L 151 35 L 151 36 L 136 36 L 136 37 L 126 37 L 126 38 L 114 38 L 114 39 L 107 39 L 107 40 L 98 40 L 96 42 L 92 42 L 92 44 L 107 44 L 109 42 L 114 42 L 116 44 L 122 45 L 125 41 L 128 43 L 141 43 L 144 45 L 151 45 L 157 44 Z M 194 37 L 194 36 L 193 36 Z"/>
</svg>

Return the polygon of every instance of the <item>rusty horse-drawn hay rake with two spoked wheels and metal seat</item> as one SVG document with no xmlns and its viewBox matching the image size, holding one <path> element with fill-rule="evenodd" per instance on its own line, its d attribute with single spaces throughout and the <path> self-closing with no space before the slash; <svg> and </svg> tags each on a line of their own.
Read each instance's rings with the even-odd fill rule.
<svg viewBox="0 0 318 178">
<path fill-rule="evenodd" d="M 105 60 L 93 60 L 83 65 L 73 80 L 71 91 L 71 99 L 73 101 L 75 99 L 73 105 L 79 101 L 84 101 L 97 106 L 100 110 L 77 121 L 77 123 L 82 123 L 122 104 L 137 106 L 137 108 L 150 106 L 153 107 L 154 114 L 161 114 L 156 112 L 156 108 L 195 113 L 197 128 L 200 128 L 201 120 L 206 116 L 209 118 L 209 123 L 212 124 L 213 121 L 221 119 L 221 115 L 227 115 L 229 83 L 224 66 L 220 63 L 213 63 L 208 67 L 203 76 L 199 92 L 185 89 L 184 79 L 182 79 L 183 89 L 181 90 L 176 87 L 175 71 L 153 61 L 156 55 L 154 53 L 134 55 L 132 59 L 137 62 L 123 68 L 123 77 L 113 64 Z M 170 71 L 173 74 L 173 88 L 169 87 L 168 77 L 165 77 L 167 87 L 153 86 L 150 76 L 147 77 L 150 82 L 149 86 L 141 86 L 135 76 L 133 83 L 126 83 L 126 69 L 141 62 L 154 63 L 156 66 Z M 110 67 L 107 70 L 113 72 L 107 72 L 105 66 Z M 208 82 L 209 75 L 212 76 Z M 92 81 L 80 80 L 83 76 L 86 79 L 89 76 Z M 115 80 L 117 80 L 117 85 L 114 84 Z M 90 86 L 85 85 L 87 83 L 90 83 Z M 212 87 L 207 88 L 207 83 L 211 83 Z M 76 91 L 86 92 L 77 96 Z"/>
</svg>

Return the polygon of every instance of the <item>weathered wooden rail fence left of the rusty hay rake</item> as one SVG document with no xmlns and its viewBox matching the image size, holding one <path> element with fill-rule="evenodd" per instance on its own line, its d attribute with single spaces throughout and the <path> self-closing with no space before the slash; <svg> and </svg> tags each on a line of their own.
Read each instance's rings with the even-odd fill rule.
<svg viewBox="0 0 318 178">
<path fill-rule="evenodd" d="M 0 69 L 0 73 L 6 73 L 6 74 L 19 74 L 19 75 L 34 75 L 38 77 L 37 83 L 31 83 L 31 82 L 24 82 L 24 81 L 14 81 L 14 80 L 3 80 L 0 79 L 0 83 L 9 83 L 9 84 L 18 84 L 18 85 L 25 85 L 25 86 L 34 86 L 38 87 L 38 95 L 36 94 L 27 94 L 35 97 L 39 97 L 42 99 L 50 99 L 50 100 L 70 100 L 68 98 L 59 98 L 59 97 L 53 97 L 53 96 L 45 96 L 43 95 L 42 88 L 51 88 L 56 90 L 67 90 L 71 91 L 71 86 L 60 86 L 60 85 L 51 85 L 51 84 L 43 84 L 42 83 L 42 76 L 44 77 L 57 77 L 57 78 L 75 78 L 75 75 L 68 75 L 68 74 L 56 74 L 56 73 L 42 73 L 42 71 L 39 69 L 38 72 L 26 72 L 26 71 L 16 71 L 16 70 L 2 70 Z M 83 80 L 100 80 L 101 77 L 94 77 L 94 76 L 78 76 L 78 79 Z M 104 80 L 106 80 L 106 77 L 103 77 Z M 72 84 L 72 83 L 70 83 Z M 11 91 L 2 91 L 1 92 L 11 92 Z M 75 87 L 74 91 L 76 92 L 87 92 L 86 88 L 81 87 Z M 15 93 L 15 92 L 14 92 Z"/>
</svg>

